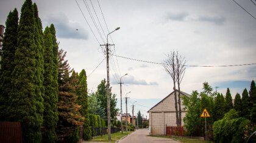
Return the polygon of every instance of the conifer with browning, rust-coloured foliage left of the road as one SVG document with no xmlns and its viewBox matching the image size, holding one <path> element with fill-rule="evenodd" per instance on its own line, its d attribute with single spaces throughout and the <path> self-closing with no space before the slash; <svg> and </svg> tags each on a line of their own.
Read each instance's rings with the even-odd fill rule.
<svg viewBox="0 0 256 143">
<path fill-rule="evenodd" d="M 80 115 L 80 105 L 76 104 L 77 95 L 76 95 L 76 85 L 74 82 L 78 80 L 76 76 L 69 77 L 69 73 L 71 73 L 68 63 L 66 62 L 63 65 L 63 61 L 65 61 L 65 55 L 63 54 L 63 50 L 60 50 L 60 57 L 62 57 L 62 61 L 59 61 L 59 70 L 62 72 L 62 76 L 59 76 L 59 102 L 58 102 L 58 111 L 59 111 L 59 122 L 57 126 L 57 135 L 58 142 L 67 141 L 69 138 L 76 136 L 73 135 L 74 131 L 77 127 L 84 124 L 84 117 Z M 65 68 L 63 68 L 65 67 Z M 60 70 L 60 68 L 62 68 Z M 73 71 L 73 70 L 72 70 Z M 76 141 L 76 139 L 74 139 Z"/>
</svg>

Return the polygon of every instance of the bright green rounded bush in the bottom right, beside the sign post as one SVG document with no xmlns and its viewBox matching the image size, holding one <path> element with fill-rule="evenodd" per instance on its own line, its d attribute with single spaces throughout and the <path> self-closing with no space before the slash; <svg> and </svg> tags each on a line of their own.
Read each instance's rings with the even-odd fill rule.
<svg viewBox="0 0 256 143">
<path fill-rule="evenodd" d="M 213 135 L 215 142 L 246 142 L 255 129 L 251 121 L 238 118 L 237 111 L 232 109 L 213 124 Z"/>
</svg>

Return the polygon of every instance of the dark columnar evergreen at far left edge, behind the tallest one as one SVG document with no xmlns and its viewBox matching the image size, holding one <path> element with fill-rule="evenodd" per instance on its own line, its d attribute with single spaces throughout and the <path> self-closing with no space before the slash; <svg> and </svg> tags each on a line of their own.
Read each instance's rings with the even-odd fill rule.
<svg viewBox="0 0 256 143">
<path fill-rule="evenodd" d="M 9 94 L 12 90 L 12 71 L 15 67 L 14 55 L 18 38 L 18 11 L 10 12 L 5 22 L 0 68 L 0 121 L 8 121 L 10 106 Z"/>
</svg>

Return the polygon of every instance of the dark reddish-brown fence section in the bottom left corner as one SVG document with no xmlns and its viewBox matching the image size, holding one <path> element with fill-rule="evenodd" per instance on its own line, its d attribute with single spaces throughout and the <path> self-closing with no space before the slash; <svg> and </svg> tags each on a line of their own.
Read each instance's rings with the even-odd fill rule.
<svg viewBox="0 0 256 143">
<path fill-rule="evenodd" d="M 22 142 L 20 122 L 0 122 L 0 142 Z"/>
</svg>

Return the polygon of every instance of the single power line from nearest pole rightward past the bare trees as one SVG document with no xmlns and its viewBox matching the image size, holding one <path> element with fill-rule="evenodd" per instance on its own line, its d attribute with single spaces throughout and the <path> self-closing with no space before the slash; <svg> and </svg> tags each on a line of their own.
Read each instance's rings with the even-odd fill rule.
<svg viewBox="0 0 256 143">
<path fill-rule="evenodd" d="M 124 59 L 130 59 L 132 61 L 147 62 L 147 63 L 150 63 L 150 64 L 166 65 L 163 62 L 144 61 L 144 60 L 140 60 L 140 59 L 132 59 L 132 58 L 127 58 L 127 57 L 118 56 L 118 55 L 112 55 L 112 56 L 117 56 L 119 58 L 124 58 Z M 185 67 L 237 67 L 237 66 L 243 66 L 243 65 L 256 65 L 256 63 L 252 63 L 252 64 L 235 64 L 235 65 L 185 65 Z"/>
</svg>

